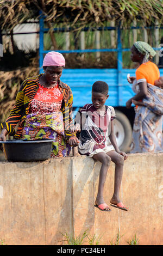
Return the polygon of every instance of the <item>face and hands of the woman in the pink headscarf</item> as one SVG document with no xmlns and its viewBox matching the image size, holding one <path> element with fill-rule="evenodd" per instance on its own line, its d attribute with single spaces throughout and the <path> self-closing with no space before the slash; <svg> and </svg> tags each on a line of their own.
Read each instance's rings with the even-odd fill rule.
<svg viewBox="0 0 163 256">
<path fill-rule="evenodd" d="M 59 78 L 62 75 L 62 66 L 47 66 L 43 67 L 45 70 L 45 73 L 40 76 L 39 82 L 42 86 L 52 88 L 54 87 Z M 6 136 L 8 135 L 8 131 L 6 129 L 2 129 L 2 132 L 0 134 L 0 141 L 6 141 Z M 76 147 L 79 143 L 78 138 L 75 136 L 72 136 L 69 140 L 68 143 L 71 146 Z"/>
</svg>

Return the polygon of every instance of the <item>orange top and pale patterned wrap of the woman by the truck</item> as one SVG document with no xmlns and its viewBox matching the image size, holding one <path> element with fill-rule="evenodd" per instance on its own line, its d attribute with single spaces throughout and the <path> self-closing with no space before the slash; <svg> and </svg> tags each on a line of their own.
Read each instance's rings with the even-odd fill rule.
<svg viewBox="0 0 163 256">
<path fill-rule="evenodd" d="M 135 107 L 133 139 L 130 153 L 163 151 L 162 114 L 163 89 L 154 86 L 160 76 L 158 67 L 146 62 L 136 70 L 135 93 L 139 92 L 139 83 L 147 82 L 147 96 L 142 100 L 146 106 Z"/>
</svg>

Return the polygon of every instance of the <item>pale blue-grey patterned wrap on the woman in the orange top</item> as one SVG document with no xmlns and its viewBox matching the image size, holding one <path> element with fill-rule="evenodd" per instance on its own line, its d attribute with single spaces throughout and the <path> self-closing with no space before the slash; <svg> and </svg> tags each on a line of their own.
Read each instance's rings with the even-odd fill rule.
<svg viewBox="0 0 163 256">
<path fill-rule="evenodd" d="M 147 85 L 144 106 L 135 108 L 130 153 L 162 152 L 163 89 Z"/>
</svg>

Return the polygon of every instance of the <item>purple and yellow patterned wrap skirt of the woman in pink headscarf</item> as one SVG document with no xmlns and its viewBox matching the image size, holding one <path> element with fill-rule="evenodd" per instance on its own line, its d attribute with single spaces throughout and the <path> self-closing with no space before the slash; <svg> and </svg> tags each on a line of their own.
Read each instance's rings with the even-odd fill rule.
<svg viewBox="0 0 163 256">
<path fill-rule="evenodd" d="M 24 122 L 22 138 L 27 141 L 36 139 L 54 139 L 51 157 L 65 157 L 71 147 L 65 141 L 62 112 L 49 114 L 28 114 Z"/>
</svg>

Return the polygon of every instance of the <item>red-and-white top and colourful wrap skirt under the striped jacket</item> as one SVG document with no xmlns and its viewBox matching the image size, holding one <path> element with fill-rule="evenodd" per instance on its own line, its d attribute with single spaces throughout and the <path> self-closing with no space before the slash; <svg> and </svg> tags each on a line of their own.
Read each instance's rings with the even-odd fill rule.
<svg viewBox="0 0 163 256">
<path fill-rule="evenodd" d="M 51 157 L 67 155 L 64 139 L 64 121 L 60 111 L 62 94 L 59 86 L 47 88 L 39 84 L 39 89 L 30 103 L 29 114 L 24 122 L 22 138 L 28 141 L 35 139 L 54 139 Z"/>
</svg>

